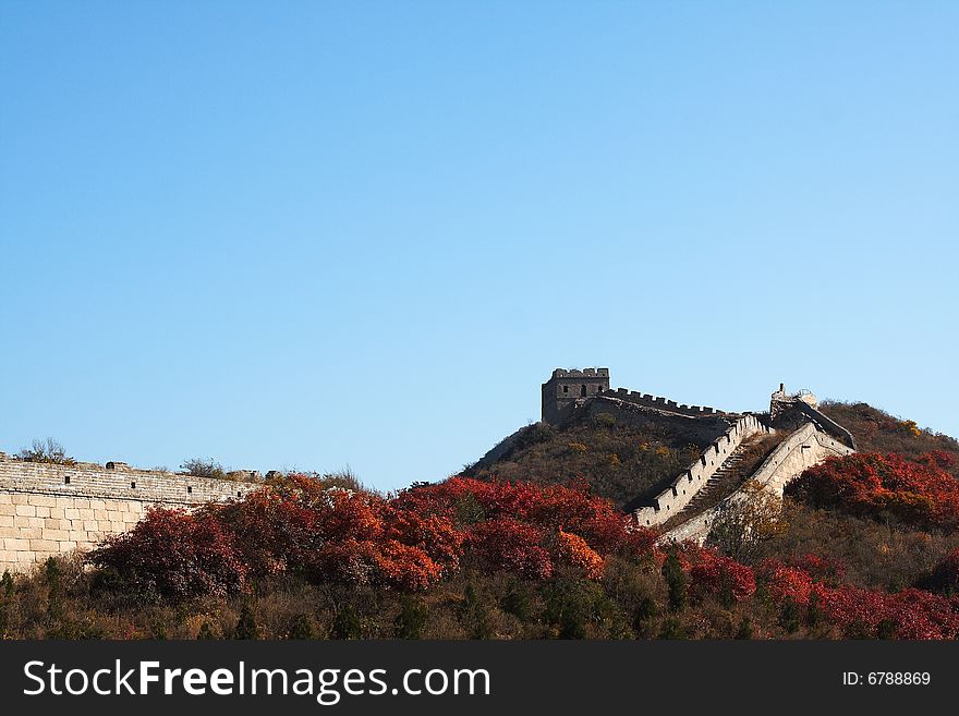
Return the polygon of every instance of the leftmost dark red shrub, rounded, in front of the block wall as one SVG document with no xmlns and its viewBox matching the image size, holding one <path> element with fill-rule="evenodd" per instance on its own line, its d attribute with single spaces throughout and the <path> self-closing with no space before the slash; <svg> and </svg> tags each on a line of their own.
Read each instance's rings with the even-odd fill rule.
<svg viewBox="0 0 959 716">
<path fill-rule="evenodd" d="M 87 560 L 111 568 L 136 591 L 171 600 L 241 592 L 246 567 L 230 534 L 209 513 L 151 509 L 133 530 L 95 549 Z"/>
</svg>

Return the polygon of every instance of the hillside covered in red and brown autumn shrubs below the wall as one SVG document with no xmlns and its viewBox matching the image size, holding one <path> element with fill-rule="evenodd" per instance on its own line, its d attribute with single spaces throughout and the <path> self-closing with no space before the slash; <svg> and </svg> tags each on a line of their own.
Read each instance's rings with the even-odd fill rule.
<svg viewBox="0 0 959 716">
<path fill-rule="evenodd" d="M 704 547 L 657 545 L 599 495 L 655 489 L 702 424 L 592 416 L 394 496 L 289 475 L 154 510 L 85 559 L 4 574 L 0 638 L 959 638 L 956 441 L 828 410 L 872 451 L 806 470 L 781 513 L 750 505 Z"/>
</svg>

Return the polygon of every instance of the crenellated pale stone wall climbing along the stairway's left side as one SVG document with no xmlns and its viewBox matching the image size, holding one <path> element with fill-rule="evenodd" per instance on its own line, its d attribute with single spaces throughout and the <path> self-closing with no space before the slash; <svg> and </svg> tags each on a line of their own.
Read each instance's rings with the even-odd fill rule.
<svg viewBox="0 0 959 716">
<path fill-rule="evenodd" d="M 633 512 L 636 523 L 653 526 L 666 522 L 693 500 L 696 493 L 745 438 L 768 430 L 754 415 L 743 415 L 737 420 L 723 437 L 703 451 L 699 460 L 654 498 L 651 507 Z"/>
</svg>

